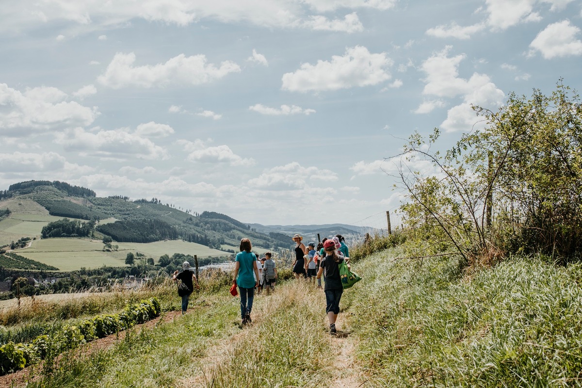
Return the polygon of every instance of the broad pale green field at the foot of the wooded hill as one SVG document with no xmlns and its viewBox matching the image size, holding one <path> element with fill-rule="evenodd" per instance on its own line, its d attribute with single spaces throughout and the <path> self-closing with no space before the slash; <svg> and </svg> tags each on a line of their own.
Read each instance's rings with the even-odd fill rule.
<svg viewBox="0 0 582 388">
<path fill-rule="evenodd" d="M 158 258 L 164 254 L 172 256 L 175 253 L 197 255 L 200 258 L 229 255 L 227 252 L 214 250 L 196 243 L 182 240 L 157 241 L 155 243 L 116 243 L 118 251 L 102 251 L 103 243 L 91 239 L 45 239 L 35 240 L 30 248 L 16 250 L 15 253 L 54 265 L 63 271 L 87 269 L 101 266 L 125 266 L 128 252 L 140 252 L 146 257 Z"/>
</svg>

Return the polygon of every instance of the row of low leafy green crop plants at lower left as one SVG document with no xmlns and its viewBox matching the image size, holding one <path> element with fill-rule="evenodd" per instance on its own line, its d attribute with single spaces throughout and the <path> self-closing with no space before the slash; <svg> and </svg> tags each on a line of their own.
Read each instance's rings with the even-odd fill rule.
<svg viewBox="0 0 582 388">
<path fill-rule="evenodd" d="M 154 297 L 127 305 L 119 314 L 97 315 L 77 325 L 63 325 L 50 335 L 42 334 L 30 343 L 15 344 L 10 341 L 0 346 L 0 375 L 19 371 L 41 359 L 52 359 L 63 351 L 147 322 L 158 316 L 160 311 L 159 300 Z"/>
</svg>

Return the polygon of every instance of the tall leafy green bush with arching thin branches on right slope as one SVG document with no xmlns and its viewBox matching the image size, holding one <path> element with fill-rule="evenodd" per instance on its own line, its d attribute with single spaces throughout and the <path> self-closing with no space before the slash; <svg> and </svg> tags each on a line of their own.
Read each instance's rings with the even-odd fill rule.
<svg viewBox="0 0 582 388">
<path fill-rule="evenodd" d="M 435 247 L 452 245 L 467 261 L 505 252 L 567 257 L 582 250 L 582 105 L 559 81 L 546 97 L 510 94 L 493 112 L 473 108 L 487 126 L 463 134 L 444 155 L 438 129 L 415 133 L 399 176 L 408 228 Z M 409 162 L 427 161 L 424 176 Z M 410 163 L 411 164 L 411 163 Z"/>
</svg>

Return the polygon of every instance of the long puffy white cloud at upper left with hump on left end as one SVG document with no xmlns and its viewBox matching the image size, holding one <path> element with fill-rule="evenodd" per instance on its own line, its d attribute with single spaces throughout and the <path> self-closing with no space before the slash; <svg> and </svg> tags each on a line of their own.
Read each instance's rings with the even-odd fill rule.
<svg viewBox="0 0 582 388">
<path fill-rule="evenodd" d="M 115 54 L 107 70 L 97 80 L 111 88 L 137 86 L 144 88 L 165 87 L 171 84 L 200 85 L 221 79 L 229 73 L 239 73 L 240 66 L 230 60 L 221 62 L 219 67 L 207 64 L 206 56 L 185 56 L 180 54 L 166 63 L 133 66 L 136 55 Z"/>
</svg>

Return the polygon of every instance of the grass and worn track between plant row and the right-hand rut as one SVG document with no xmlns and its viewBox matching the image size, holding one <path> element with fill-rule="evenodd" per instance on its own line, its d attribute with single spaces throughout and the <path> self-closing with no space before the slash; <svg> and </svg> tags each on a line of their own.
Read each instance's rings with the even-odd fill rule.
<svg viewBox="0 0 582 388">
<path fill-rule="evenodd" d="M 238 298 L 196 299 L 186 315 L 132 332 L 114 348 L 70 355 L 29 387 L 324 386 L 333 368 L 325 298 L 303 283 L 255 297 L 241 329 Z"/>
</svg>

